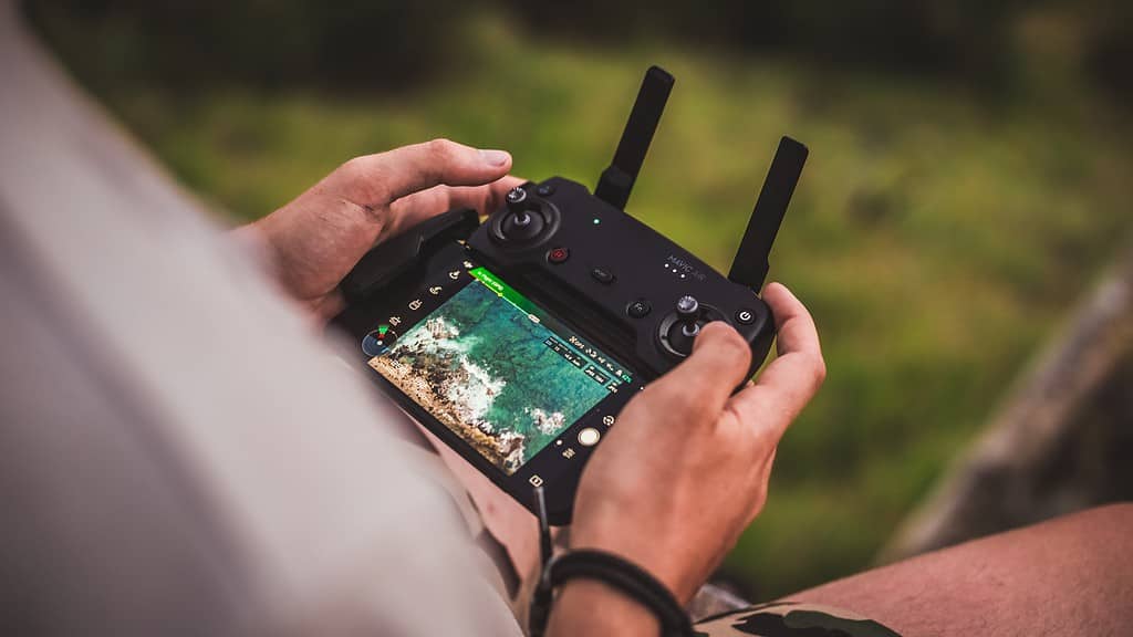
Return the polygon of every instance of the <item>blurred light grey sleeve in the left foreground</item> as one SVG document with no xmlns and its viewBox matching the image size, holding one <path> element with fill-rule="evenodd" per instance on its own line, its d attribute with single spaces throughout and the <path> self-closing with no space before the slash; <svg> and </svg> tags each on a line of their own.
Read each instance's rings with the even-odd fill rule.
<svg viewBox="0 0 1133 637">
<path fill-rule="evenodd" d="M 519 635 L 445 489 L 0 5 L 0 634 Z"/>
</svg>

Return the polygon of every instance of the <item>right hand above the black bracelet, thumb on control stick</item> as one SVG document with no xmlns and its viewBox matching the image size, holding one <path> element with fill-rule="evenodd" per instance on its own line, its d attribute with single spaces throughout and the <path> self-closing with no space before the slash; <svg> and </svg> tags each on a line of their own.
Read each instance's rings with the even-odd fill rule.
<svg viewBox="0 0 1133 637">
<path fill-rule="evenodd" d="M 776 445 L 826 375 L 807 308 L 778 283 L 763 298 L 778 357 L 755 384 L 732 394 L 751 354 L 709 323 L 687 360 L 629 402 L 579 484 L 571 547 L 620 554 L 682 603 L 763 509 Z"/>
</svg>

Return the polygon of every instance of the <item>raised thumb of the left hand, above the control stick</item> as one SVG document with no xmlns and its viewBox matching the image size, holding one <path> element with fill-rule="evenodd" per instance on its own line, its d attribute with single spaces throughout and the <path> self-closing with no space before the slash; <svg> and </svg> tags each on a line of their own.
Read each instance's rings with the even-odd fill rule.
<svg viewBox="0 0 1133 637">
<path fill-rule="evenodd" d="M 384 153 L 364 155 L 342 168 L 346 185 L 369 205 L 384 205 L 438 185 L 480 186 L 511 170 L 504 151 L 478 150 L 433 139 Z"/>
</svg>

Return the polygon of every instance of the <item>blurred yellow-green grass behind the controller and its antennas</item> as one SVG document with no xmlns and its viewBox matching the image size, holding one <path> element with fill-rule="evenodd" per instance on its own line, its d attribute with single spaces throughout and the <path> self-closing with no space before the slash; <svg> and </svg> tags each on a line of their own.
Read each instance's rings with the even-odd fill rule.
<svg viewBox="0 0 1133 637">
<path fill-rule="evenodd" d="M 593 185 L 661 63 L 678 84 L 630 212 L 723 271 L 778 136 L 806 142 L 772 279 L 813 312 L 829 373 L 725 564 L 757 597 L 867 567 L 1130 230 L 1127 116 L 1048 66 L 989 101 L 912 76 L 535 42 L 492 17 L 467 31 L 457 71 L 398 94 L 91 88 L 244 221 L 350 156 L 440 136 Z"/>
</svg>

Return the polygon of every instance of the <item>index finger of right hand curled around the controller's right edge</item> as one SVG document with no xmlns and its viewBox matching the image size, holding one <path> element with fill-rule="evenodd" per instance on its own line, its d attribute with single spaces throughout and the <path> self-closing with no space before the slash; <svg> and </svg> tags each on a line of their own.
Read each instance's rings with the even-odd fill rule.
<svg viewBox="0 0 1133 637">
<path fill-rule="evenodd" d="M 768 284 L 763 297 L 775 315 L 778 356 L 729 406 L 744 423 L 772 427 L 777 438 L 821 387 L 826 363 L 806 306 L 780 283 Z"/>
</svg>

